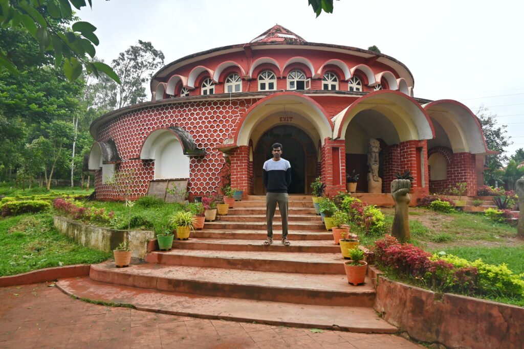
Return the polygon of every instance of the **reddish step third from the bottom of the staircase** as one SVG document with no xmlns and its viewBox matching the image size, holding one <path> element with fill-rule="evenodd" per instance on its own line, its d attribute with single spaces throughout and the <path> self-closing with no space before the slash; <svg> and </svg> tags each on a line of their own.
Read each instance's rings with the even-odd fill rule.
<svg viewBox="0 0 524 349">
<path fill-rule="evenodd" d="M 163 265 L 242 269 L 258 272 L 342 274 L 344 258 L 340 253 L 249 252 L 171 250 L 148 253 L 146 262 Z"/>
</svg>

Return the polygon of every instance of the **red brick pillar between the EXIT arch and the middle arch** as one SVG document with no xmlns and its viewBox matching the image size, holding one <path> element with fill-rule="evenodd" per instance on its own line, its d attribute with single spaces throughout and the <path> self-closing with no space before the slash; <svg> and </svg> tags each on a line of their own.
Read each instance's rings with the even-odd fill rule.
<svg viewBox="0 0 524 349">
<path fill-rule="evenodd" d="M 321 177 L 330 197 L 346 191 L 345 140 L 324 139 L 322 147 Z"/>
</svg>

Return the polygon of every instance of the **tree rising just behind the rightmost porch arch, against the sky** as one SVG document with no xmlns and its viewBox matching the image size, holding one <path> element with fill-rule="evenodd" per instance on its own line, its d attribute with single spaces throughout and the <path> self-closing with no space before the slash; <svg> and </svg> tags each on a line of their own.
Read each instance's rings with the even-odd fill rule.
<svg viewBox="0 0 524 349">
<path fill-rule="evenodd" d="M 497 125 L 497 115 L 484 106 L 478 108 L 476 115 L 481 122 L 487 148 L 499 152 L 499 154 L 486 156 L 487 170 L 484 171 L 484 181 L 486 183 L 500 181 L 502 178 L 497 174 L 497 170 L 503 167 L 503 163 L 508 161 L 505 148 L 512 143 L 506 135 L 508 133 L 506 130 L 507 126 Z"/>
</svg>

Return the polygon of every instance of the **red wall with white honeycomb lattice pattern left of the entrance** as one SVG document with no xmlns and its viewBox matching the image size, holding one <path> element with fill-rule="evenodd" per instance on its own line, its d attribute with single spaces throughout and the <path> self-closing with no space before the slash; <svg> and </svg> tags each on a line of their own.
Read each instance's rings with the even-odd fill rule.
<svg viewBox="0 0 524 349">
<path fill-rule="evenodd" d="M 216 145 L 232 138 L 237 121 L 256 102 L 256 99 L 185 101 L 141 108 L 102 125 L 97 132 L 97 141 L 112 138 L 117 144 L 122 163 L 116 169 L 135 172 L 131 196 L 135 199 L 146 195 L 149 181 L 154 179 L 154 161 L 139 159 L 145 140 L 156 130 L 182 127 L 191 134 L 196 146 L 206 151 L 204 157 L 192 157 L 190 161 L 189 192 L 193 196 L 202 196 L 216 192 L 220 185 L 218 174 L 224 157 L 215 149 Z M 114 190 L 102 184 L 101 172 L 95 174 L 97 199 L 116 199 Z"/>
</svg>

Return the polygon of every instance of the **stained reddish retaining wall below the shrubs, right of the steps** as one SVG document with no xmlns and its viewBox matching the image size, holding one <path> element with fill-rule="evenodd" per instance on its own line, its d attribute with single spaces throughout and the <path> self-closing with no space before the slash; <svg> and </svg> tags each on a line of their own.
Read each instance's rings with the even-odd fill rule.
<svg viewBox="0 0 524 349">
<path fill-rule="evenodd" d="M 450 348 L 524 348 L 524 308 L 378 278 L 375 310 L 412 338 Z"/>
</svg>

